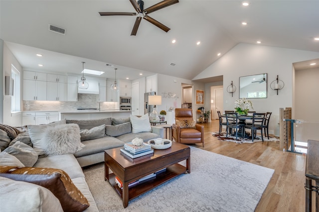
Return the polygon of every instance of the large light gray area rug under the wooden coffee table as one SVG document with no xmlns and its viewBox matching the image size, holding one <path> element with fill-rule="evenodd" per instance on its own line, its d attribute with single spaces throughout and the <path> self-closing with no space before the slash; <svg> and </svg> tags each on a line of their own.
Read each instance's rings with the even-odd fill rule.
<svg viewBox="0 0 319 212">
<path fill-rule="evenodd" d="M 131 200 L 125 209 L 104 181 L 104 164 L 83 171 L 100 212 L 253 212 L 274 173 L 196 147 L 190 147 L 190 156 L 190 174 Z"/>
</svg>

